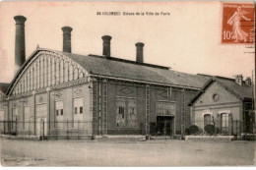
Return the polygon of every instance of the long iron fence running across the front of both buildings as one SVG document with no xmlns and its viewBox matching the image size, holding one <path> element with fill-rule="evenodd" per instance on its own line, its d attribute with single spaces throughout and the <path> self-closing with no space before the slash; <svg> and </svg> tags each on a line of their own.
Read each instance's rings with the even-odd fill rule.
<svg viewBox="0 0 256 170">
<path fill-rule="evenodd" d="M 209 127 L 209 125 L 211 125 Z M 207 128 L 208 126 L 208 128 Z M 194 128 L 193 128 L 194 127 Z M 255 130 L 255 125 L 243 125 L 242 121 L 196 122 L 186 125 L 184 135 L 224 135 L 241 136 L 249 128 Z M 143 122 L 124 124 L 100 124 L 92 121 L 0 121 L 1 134 L 41 136 L 51 139 L 82 139 L 97 135 L 151 135 L 175 136 L 180 130 L 174 121 L 157 121 L 149 123 L 149 134 Z"/>
</svg>

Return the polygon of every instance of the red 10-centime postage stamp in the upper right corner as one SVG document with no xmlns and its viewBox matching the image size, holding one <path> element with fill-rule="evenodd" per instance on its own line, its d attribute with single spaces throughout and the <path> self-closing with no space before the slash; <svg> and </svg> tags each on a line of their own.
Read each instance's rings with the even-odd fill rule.
<svg viewBox="0 0 256 170">
<path fill-rule="evenodd" d="M 223 3 L 222 43 L 254 43 L 253 3 Z"/>
</svg>

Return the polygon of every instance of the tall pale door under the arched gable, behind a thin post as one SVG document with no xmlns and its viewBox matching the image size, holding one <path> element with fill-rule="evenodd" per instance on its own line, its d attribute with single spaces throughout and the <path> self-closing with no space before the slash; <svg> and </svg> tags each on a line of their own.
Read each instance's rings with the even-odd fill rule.
<svg viewBox="0 0 256 170">
<path fill-rule="evenodd" d="M 44 120 L 44 135 L 47 134 L 47 105 L 36 105 L 36 135 L 41 135 L 42 126 L 41 120 Z"/>
</svg>

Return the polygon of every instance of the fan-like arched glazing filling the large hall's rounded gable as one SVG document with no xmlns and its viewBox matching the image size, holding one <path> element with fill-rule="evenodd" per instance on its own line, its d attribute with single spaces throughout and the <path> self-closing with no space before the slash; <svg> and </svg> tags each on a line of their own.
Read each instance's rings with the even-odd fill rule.
<svg viewBox="0 0 256 170">
<path fill-rule="evenodd" d="M 81 78 L 85 78 L 85 72 L 68 59 L 40 55 L 24 73 L 13 93 L 18 94 Z"/>
</svg>

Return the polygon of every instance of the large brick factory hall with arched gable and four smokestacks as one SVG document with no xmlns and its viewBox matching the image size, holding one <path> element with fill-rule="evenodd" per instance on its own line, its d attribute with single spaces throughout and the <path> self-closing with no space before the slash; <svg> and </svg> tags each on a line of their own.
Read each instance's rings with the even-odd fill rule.
<svg viewBox="0 0 256 170">
<path fill-rule="evenodd" d="M 144 63 L 144 43 L 136 61 L 110 53 L 72 53 L 72 28 L 63 27 L 63 51 L 37 48 L 26 60 L 25 22 L 16 16 L 17 74 L 1 101 L 5 132 L 18 135 L 184 135 L 193 115 L 189 102 L 211 78 Z M 194 123 L 194 122 L 192 122 Z M 164 131 L 165 130 L 165 131 Z"/>
</svg>

